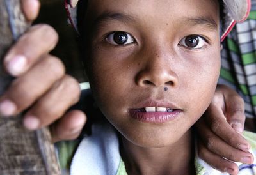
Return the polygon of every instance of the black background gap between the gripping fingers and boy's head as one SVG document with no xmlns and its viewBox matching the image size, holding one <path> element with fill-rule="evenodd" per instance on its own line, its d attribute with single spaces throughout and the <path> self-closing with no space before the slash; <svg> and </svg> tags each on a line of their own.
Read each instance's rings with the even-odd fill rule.
<svg viewBox="0 0 256 175">
<path fill-rule="evenodd" d="M 35 24 L 50 24 L 60 36 L 58 45 L 51 54 L 63 61 L 68 74 L 76 77 L 79 82 L 87 81 L 77 49 L 77 35 L 72 26 L 68 24 L 64 0 L 41 0 L 40 2 L 42 5 L 40 15 Z"/>
</svg>

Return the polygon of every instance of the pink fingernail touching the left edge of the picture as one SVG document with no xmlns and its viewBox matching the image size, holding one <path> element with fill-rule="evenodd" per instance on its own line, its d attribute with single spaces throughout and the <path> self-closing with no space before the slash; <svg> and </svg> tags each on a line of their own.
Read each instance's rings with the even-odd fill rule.
<svg viewBox="0 0 256 175">
<path fill-rule="evenodd" d="M 1 116 L 12 116 L 17 110 L 17 106 L 11 100 L 4 100 L 0 103 Z"/>
</svg>

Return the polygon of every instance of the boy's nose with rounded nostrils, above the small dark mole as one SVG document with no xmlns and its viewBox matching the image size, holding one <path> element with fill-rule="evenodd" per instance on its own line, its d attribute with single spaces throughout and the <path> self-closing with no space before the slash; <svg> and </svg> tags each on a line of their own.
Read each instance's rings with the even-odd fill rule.
<svg viewBox="0 0 256 175">
<path fill-rule="evenodd" d="M 136 75 L 136 84 L 141 87 L 169 86 L 179 84 L 177 73 L 172 69 L 172 57 L 166 52 L 155 52 L 143 59 L 141 70 Z"/>
</svg>

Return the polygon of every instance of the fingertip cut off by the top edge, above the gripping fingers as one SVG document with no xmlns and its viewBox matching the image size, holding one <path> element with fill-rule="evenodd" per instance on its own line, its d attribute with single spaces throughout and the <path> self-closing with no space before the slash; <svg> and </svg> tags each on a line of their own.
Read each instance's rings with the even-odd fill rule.
<svg viewBox="0 0 256 175">
<path fill-rule="evenodd" d="M 40 2 L 38 0 L 22 0 L 22 11 L 28 21 L 36 19 L 40 9 Z"/>
</svg>

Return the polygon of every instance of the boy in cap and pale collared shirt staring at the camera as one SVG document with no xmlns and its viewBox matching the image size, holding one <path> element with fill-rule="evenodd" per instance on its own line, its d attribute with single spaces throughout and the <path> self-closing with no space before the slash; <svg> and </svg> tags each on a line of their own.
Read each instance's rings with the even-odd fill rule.
<svg viewBox="0 0 256 175">
<path fill-rule="evenodd" d="M 214 95 L 220 41 L 248 15 L 250 1 L 224 2 L 79 2 L 92 93 L 118 133 L 93 124 L 71 174 L 221 174 L 197 158 L 191 126 Z M 255 135 L 244 136 L 256 153 Z M 255 163 L 239 173 L 256 174 Z"/>
</svg>

